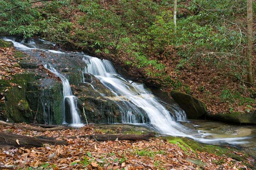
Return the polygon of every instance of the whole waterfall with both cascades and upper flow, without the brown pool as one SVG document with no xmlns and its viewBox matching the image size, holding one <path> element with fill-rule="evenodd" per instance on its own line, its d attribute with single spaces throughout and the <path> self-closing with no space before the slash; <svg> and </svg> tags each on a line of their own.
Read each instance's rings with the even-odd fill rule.
<svg viewBox="0 0 256 170">
<path fill-rule="evenodd" d="M 111 62 L 108 60 L 100 60 L 99 58 L 91 57 L 85 55 L 83 53 L 73 53 L 67 51 L 56 51 L 51 50 L 50 47 L 54 46 L 54 44 L 50 42 L 46 42 L 44 40 L 37 39 L 32 40 L 22 40 L 22 42 L 16 42 L 15 38 L 2 38 L 6 41 L 13 42 L 15 48 L 24 51 L 28 54 L 32 54 L 34 56 L 40 57 L 41 52 L 49 54 L 49 56 L 53 58 L 62 59 L 61 57 L 66 56 L 74 56 L 83 58 L 83 61 L 87 64 L 87 66 L 83 69 L 83 73 L 88 73 L 94 75 L 96 79 L 100 80 L 100 82 L 115 96 L 118 100 L 113 100 L 120 107 L 122 112 L 122 122 L 124 123 L 147 123 L 148 126 L 151 126 L 155 130 L 160 133 L 165 133 L 173 136 L 183 136 L 189 137 L 191 139 L 204 142 L 204 143 L 220 143 L 226 142 L 230 144 L 241 144 L 245 143 L 245 140 L 248 137 L 227 137 L 227 138 L 214 138 L 211 133 L 206 133 L 203 131 L 196 131 L 186 126 L 183 126 L 179 122 L 186 121 L 185 112 L 179 108 L 178 105 L 171 105 L 173 108 L 173 112 L 169 112 L 160 101 L 158 101 L 154 95 L 147 90 L 143 84 L 139 84 L 136 82 L 132 82 L 130 80 L 124 79 L 121 75 L 117 73 Z M 50 47 L 49 47 L 50 46 Z M 45 59 L 46 60 L 46 59 Z M 42 61 L 42 60 L 41 60 Z M 59 73 L 56 69 L 53 68 L 50 64 L 46 64 L 45 68 L 49 66 L 49 70 L 58 76 L 63 84 L 63 123 L 66 122 L 65 119 L 65 104 L 69 105 L 69 112 L 72 116 L 72 126 L 83 126 L 82 121 L 80 120 L 80 116 L 77 112 L 76 106 L 76 97 L 72 94 L 70 89 L 69 80 Z M 82 81 L 85 82 L 85 79 L 88 77 L 84 77 Z M 86 82 L 93 90 L 97 91 L 93 84 L 90 82 Z M 100 93 L 102 97 L 107 96 L 103 93 Z M 163 101 L 161 101 L 163 102 Z M 164 102 L 163 102 L 164 103 Z M 43 110 L 45 114 L 46 121 L 52 121 L 52 115 L 49 112 L 51 102 L 42 101 Z M 167 105 L 164 103 L 165 106 Z M 116 117 L 111 116 L 108 117 L 109 123 L 117 122 Z M 208 139 L 207 139 L 208 138 Z"/>
</svg>

